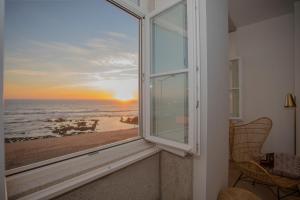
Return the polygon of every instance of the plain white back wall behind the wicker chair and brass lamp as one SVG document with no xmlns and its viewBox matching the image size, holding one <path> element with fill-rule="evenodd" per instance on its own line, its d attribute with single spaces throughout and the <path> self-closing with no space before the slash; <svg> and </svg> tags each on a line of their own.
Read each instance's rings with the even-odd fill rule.
<svg viewBox="0 0 300 200">
<path fill-rule="evenodd" d="M 284 108 L 294 91 L 293 15 L 261 21 L 230 34 L 229 56 L 242 61 L 243 120 L 270 117 L 273 128 L 266 152 L 294 151 L 293 110 Z"/>
</svg>

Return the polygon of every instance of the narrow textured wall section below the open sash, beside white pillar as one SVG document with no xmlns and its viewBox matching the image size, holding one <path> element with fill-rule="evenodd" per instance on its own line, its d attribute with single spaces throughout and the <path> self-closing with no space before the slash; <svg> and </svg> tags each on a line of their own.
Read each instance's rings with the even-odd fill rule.
<svg viewBox="0 0 300 200">
<path fill-rule="evenodd" d="M 192 200 L 193 159 L 161 152 L 161 200 Z"/>
</svg>

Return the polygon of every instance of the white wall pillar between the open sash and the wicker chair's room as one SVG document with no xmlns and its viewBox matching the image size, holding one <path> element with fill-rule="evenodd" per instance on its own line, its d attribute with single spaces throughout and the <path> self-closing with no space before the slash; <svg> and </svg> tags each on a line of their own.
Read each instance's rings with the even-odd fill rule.
<svg viewBox="0 0 300 200">
<path fill-rule="evenodd" d="M 195 200 L 215 200 L 228 181 L 228 2 L 199 2 L 201 155 L 194 156 L 193 192 Z"/>
</svg>

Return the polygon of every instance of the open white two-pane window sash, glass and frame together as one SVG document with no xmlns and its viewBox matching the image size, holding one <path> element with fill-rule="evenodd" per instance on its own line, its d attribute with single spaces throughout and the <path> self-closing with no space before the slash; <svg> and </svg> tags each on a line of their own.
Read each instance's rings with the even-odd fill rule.
<svg viewBox="0 0 300 200">
<path fill-rule="evenodd" d="M 195 6 L 176 0 L 145 16 L 144 136 L 196 152 Z"/>
</svg>

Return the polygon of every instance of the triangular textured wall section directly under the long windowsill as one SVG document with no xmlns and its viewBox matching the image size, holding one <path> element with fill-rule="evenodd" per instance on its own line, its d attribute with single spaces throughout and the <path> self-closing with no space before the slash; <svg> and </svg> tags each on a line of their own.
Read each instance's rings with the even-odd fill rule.
<svg viewBox="0 0 300 200">
<path fill-rule="evenodd" d="M 66 193 L 56 200 L 158 200 L 159 154 Z"/>
</svg>

